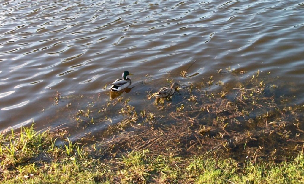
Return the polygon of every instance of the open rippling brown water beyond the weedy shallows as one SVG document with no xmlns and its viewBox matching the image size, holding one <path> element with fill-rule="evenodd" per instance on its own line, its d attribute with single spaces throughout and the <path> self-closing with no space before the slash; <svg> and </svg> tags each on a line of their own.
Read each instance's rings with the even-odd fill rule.
<svg viewBox="0 0 304 184">
<path fill-rule="evenodd" d="M 33 121 L 72 135 L 105 129 L 73 129 L 72 115 L 92 98 L 105 103 L 103 87 L 124 70 L 135 75 L 123 97 L 140 107 L 153 108 L 146 91 L 167 79 L 236 82 L 217 72 L 228 67 L 246 71 L 241 80 L 279 76 L 290 104 L 303 103 L 302 1 L 2 0 L 0 10 L 0 130 Z M 66 98 L 56 105 L 57 91 Z M 114 123 L 118 109 L 108 110 Z"/>
</svg>

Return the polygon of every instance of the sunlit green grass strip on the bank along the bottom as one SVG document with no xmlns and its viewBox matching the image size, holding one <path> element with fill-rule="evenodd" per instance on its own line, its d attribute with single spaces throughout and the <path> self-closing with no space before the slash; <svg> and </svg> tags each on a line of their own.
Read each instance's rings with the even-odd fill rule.
<svg viewBox="0 0 304 184">
<path fill-rule="evenodd" d="M 2 183 L 302 183 L 304 156 L 281 163 L 231 158 L 165 156 L 149 150 L 106 157 L 95 146 L 84 147 L 68 138 L 23 127 L 0 135 Z M 241 166 L 243 165 L 243 166 Z"/>
</svg>

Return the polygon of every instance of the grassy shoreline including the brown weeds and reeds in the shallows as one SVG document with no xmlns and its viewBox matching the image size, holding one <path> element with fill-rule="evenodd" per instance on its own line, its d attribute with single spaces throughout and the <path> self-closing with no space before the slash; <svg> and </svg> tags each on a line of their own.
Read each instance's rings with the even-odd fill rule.
<svg viewBox="0 0 304 184">
<path fill-rule="evenodd" d="M 278 97 L 278 87 L 267 79 L 258 72 L 224 86 L 211 76 L 203 86 L 180 89 L 174 104 L 170 98 L 151 100 L 159 114 L 137 109 L 123 96 L 75 110 L 72 118 L 85 128 L 112 121 L 102 113 L 120 109 L 123 119 L 100 136 L 71 140 L 67 130 L 35 131 L 34 125 L 2 133 L 0 181 L 303 182 L 304 105 L 286 105 L 288 97 Z"/>
</svg>

